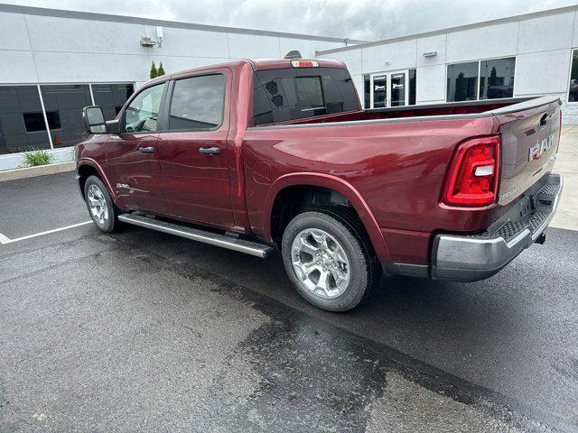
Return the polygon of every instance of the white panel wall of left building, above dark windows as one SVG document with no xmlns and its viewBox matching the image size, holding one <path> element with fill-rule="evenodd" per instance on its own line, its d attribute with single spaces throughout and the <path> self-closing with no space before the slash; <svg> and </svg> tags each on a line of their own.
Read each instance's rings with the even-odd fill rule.
<svg viewBox="0 0 578 433">
<path fill-rule="evenodd" d="M 172 72 L 226 60 L 278 59 L 292 50 L 313 58 L 315 51 L 345 46 L 338 39 L 286 33 L 164 26 L 162 47 L 143 48 L 141 37 L 157 39 L 155 25 L 32 13 L 0 12 L 0 29 L 0 85 L 143 83 L 153 60 Z"/>
</svg>

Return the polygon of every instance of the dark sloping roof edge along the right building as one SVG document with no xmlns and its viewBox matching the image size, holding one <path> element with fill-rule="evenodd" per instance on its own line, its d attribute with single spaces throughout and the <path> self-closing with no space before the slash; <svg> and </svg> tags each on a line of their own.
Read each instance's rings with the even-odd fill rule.
<svg viewBox="0 0 578 433">
<path fill-rule="evenodd" d="M 488 27 L 490 25 L 497 25 L 497 24 L 504 24 L 504 23 L 516 23 L 517 21 L 531 20 L 533 18 L 540 18 L 542 16 L 547 16 L 547 15 L 566 14 L 568 12 L 575 12 L 577 9 L 578 9 L 578 5 L 558 7 L 555 9 L 547 9 L 545 11 L 530 12 L 527 14 L 520 14 L 520 15 L 507 16 L 504 18 L 497 18 L 495 20 L 481 21 L 480 23 L 463 24 L 463 25 L 458 25 L 455 27 L 449 27 L 447 29 L 433 30 L 431 32 L 419 32 L 419 33 L 407 34 L 405 36 L 398 36 L 396 38 L 382 39 L 380 41 L 361 42 L 361 43 L 357 43 L 356 45 L 351 45 L 351 46 L 347 46 L 347 47 L 333 48 L 331 50 L 317 51 L 317 54 L 318 55 L 324 55 L 324 54 L 331 54 L 334 52 L 351 51 L 351 50 L 357 50 L 359 48 L 376 47 L 378 45 L 386 45 L 388 43 L 401 42 L 401 41 L 411 41 L 413 39 L 421 39 L 421 38 L 427 38 L 427 37 L 432 37 L 432 36 L 438 36 L 438 35 L 445 34 L 445 33 L 463 32 L 466 30 L 478 29 L 481 27 Z"/>
</svg>

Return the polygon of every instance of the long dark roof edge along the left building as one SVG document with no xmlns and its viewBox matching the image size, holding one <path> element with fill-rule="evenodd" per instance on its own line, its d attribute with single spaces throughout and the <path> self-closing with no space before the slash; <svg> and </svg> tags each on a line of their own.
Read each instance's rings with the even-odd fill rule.
<svg viewBox="0 0 578 433">
<path fill-rule="evenodd" d="M 162 27 L 172 27 L 179 29 L 200 30 L 204 32 L 227 32 L 239 34 L 256 34 L 261 36 L 275 36 L 279 38 L 303 39 L 308 41 L 327 41 L 342 43 L 366 43 L 368 41 L 359 41 L 350 38 L 335 38 L 331 36 L 315 36 L 312 34 L 275 32 L 270 30 L 246 29 L 241 27 L 227 27 L 211 24 L 184 23 L 178 21 L 155 20 L 153 18 L 141 18 L 128 15 L 99 14 L 93 12 L 70 11 L 66 9 L 50 9 L 36 6 L 7 5 L 0 3 L 0 12 L 8 14 L 27 14 L 54 16 L 57 18 L 73 18 L 77 20 L 106 21 L 112 23 L 130 23 L 143 25 L 158 25 Z"/>
</svg>

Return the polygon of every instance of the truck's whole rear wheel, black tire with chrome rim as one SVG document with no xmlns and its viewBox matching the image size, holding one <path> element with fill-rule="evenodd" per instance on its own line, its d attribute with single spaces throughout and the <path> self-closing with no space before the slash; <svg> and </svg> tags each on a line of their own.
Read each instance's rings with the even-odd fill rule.
<svg viewBox="0 0 578 433">
<path fill-rule="evenodd" d="M 380 280 L 381 267 L 368 237 L 345 209 L 294 217 L 284 230 L 281 252 L 299 294 L 327 311 L 354 309 Z"/>
</svg>

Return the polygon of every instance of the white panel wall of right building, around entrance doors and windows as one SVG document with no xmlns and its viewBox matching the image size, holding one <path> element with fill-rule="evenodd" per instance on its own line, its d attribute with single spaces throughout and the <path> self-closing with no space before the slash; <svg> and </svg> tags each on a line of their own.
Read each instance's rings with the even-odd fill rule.
<svg viewBox="0 0 578 433">
<path fill-rule="evenodd" d="M 578 123 L 578 103 L 567 103 L 572 51 L 578 48 L 576 6 L 489 23 L 370 42 L 319 52 L 343 60 L 363 85 L 363 75 L 416 68 L 416 104 L 446 100 L 447 65 L 516 57 L 514 97 L 552 95 L 563 102 L 564 123 Z M 424 52 L 436 51 L 434 57 Z M 358 88 L 363 100 L 363 88 Z"/>
</svg>

